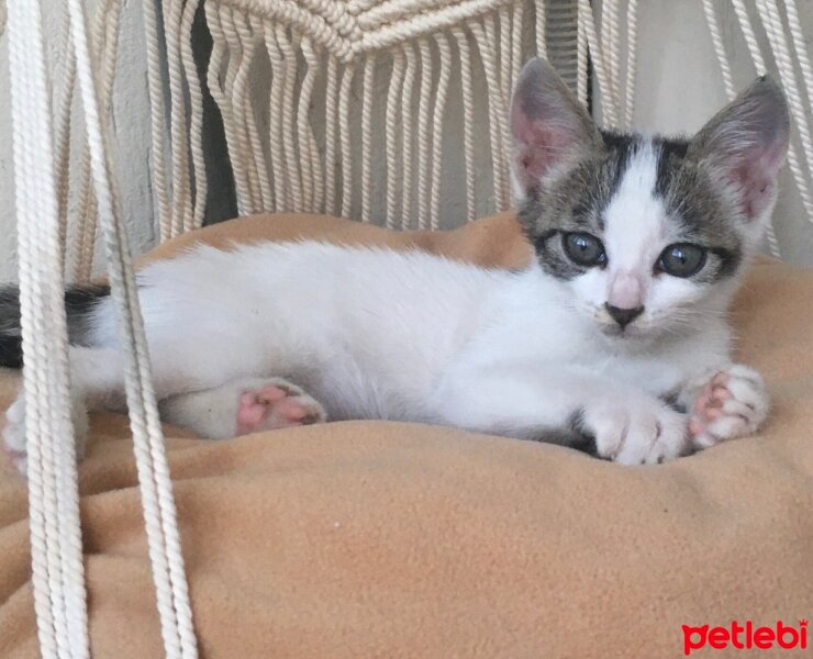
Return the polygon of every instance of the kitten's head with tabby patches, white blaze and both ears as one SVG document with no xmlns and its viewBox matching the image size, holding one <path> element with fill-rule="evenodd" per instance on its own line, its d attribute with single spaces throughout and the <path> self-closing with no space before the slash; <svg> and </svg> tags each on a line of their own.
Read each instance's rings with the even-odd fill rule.
<svg viewBox="0 0 813 659">
<path fill-rule="evenodd" d="M 724 308 L 773 209 L 789 119 L 761 77 L 688 141 L 609 133 L 534 59 L 511 131 L 520 221 L 543 270 L 578 313 L 628 340 Z"/>
</svg>

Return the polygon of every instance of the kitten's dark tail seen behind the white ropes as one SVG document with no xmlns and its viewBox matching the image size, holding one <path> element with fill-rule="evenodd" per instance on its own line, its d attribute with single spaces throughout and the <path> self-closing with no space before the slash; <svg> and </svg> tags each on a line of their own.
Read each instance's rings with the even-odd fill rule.
<svg viewBox="0 0 813 659">
<path fill-rule="evenodd" d="M 92 311 L 109 295 L 109 286 L 70 286 L 65 289 L 68 340 L 71 345 L 90 345 Z M 0 288 L 0 366 L 23 366 L 20 289 L 13 284 Z"/>
</svg>

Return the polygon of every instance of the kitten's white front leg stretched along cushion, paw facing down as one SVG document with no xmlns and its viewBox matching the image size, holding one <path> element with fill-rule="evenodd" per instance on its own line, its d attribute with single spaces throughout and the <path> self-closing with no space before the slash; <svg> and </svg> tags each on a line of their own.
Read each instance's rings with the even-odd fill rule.
<svg viewBox="0 0 813 659">
<path fill-rule="evenodd" d="M 625 465 L 656 463 L 688 449 L 688 417 L 643 390 L 588 372 L 527 367 L 465 369 L 438 388 L 444 423 L 578 446 Z"/>
</svg>

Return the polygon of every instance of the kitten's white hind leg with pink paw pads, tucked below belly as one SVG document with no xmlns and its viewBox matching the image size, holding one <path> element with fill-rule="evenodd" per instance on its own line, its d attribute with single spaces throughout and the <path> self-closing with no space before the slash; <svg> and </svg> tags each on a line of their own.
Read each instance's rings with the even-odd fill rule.
<svg viewBox="0 0 813 659">
<path fill-rule="evenodd" d="M 322 405 L 281 378 L 242 378 L 160 402 L 162 418 L 209 439 L 321 423 Z"/>
</svg>

